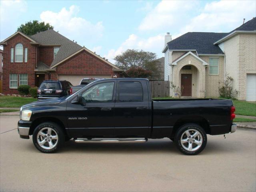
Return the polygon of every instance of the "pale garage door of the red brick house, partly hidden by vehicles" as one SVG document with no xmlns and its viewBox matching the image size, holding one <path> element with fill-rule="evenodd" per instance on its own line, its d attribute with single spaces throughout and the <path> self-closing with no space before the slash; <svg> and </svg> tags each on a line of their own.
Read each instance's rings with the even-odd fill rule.
<svg viewBox="0 0 256 192">
<path fill-rule="evenodd" d="M 69 81 L 72 85 L 79 85 L 82 78 L 111 78 L 110 75 L 59 75 L 58 80 Z"/>
</svg>

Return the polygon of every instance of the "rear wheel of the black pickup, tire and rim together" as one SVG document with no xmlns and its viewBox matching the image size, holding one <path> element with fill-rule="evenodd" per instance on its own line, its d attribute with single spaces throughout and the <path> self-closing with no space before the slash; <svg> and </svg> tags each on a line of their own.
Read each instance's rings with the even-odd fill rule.
<svg viewBox="0 0 256 192">
<path fill-rule="evenodd" d="M 186 155 L 196 155 L 204 150 L 207 136 L 198 124 L 185 124 L 176 132 L 174 142 L 180 152 Z"/>
</svg>

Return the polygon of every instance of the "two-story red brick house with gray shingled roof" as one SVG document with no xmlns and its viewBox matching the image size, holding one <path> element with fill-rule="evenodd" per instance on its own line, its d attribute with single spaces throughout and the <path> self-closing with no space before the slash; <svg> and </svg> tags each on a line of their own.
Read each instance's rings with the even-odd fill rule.
<svg viewBox="0 0 256 192">
<path fill-rule="evenodd" d="M 122 77 L 123 70 L 49 29 L 27 36 L 16 32 L 0 44 L 3 50 L 3 93 L 18 94 L 18 86 L 39 86 L 43 80 Z"/>
</svg>

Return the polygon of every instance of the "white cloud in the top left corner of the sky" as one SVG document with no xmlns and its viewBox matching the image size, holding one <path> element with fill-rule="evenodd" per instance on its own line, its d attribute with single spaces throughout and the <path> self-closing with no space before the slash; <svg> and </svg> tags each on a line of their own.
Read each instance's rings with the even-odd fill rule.
<svg viewBox="0 0 256 192">
<path fill-rule="evenodd" d="M 1 22 L 12 22 L 15 18 L 26 12 L 27 3 L 25 1 L 0 1 L 0 18 Z"/>
</svg>

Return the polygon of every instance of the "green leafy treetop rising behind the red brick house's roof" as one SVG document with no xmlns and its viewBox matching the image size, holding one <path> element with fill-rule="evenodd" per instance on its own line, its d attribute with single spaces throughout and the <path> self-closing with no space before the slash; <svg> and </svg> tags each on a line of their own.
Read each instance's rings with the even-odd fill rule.
<svg viewBox="0 0 256 192">
<path fill-rule="evenodd" d="M 21 24 L 17 31 L 20 31 L 26 35 L 34 35 L 38 32 L 46 31 L 48 29 L 53 29 L 49 23 L 39 22 L 38 20 L 33 20 L 32 22 L 26 22 L 26 24 Z"/>
</svg>

